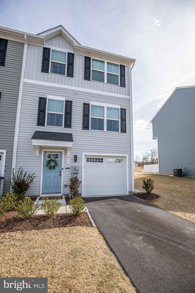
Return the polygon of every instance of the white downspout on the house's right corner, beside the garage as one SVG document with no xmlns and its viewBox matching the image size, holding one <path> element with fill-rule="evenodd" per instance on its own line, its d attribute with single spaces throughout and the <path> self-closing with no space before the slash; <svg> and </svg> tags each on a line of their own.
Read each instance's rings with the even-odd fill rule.
<svg viewBox="0 0 195 293">
<path fill-rule="evenodd" d="M 133 62 L 133 66 L 135 64 L 135 61 Z M 132 99 L 132 77 L 131 77 L 131 70 L 133 66 L 130 68 L 129 67 L 129 81 L 131 85 L 129 86 L 130 88 L 130 146 L 131 146 L 131 186 L 132 186 L 132 192 L 135 191 L 135 186 L 134 186 L 134 153 L 133 153 L 133 99 Z"/>
</svg>

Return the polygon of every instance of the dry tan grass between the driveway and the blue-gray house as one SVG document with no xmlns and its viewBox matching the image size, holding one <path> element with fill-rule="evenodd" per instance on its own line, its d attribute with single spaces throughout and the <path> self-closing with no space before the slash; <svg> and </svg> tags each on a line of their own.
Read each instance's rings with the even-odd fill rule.
<svg viewBox="0 0 195 293">
<path fill-rule="evenodd" d="M 168 212 L 195 223 L 195 178 L 169 177 L 156 173 L 144 173 L 143 168 L 135 168 L 135 188 L 142 189 L 142 179 L 154 179 L 154 190 L 159 198 L 152 204 Z"/>
</svg>

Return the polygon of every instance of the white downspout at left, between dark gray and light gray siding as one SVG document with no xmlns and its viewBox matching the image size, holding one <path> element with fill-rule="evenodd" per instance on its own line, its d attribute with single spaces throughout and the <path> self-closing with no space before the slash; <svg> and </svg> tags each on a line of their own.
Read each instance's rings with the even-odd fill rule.
<svg viewBox="0 0 195 293">
<path fill-rule="evenodd" d="M 24 71 L 26 65 L 26 57 L 27 57 L 27 35 L 24 35 L 25 43 L 24 43 L 24 52 L 23 52 L 23 62 L 22 62 L 22 70 L 21 70 L 21 78 L 19 85 L 19 95 L 18 95 L 18 106 L 16 112 L 16 126 L 15 126 L 15 134 L 14 134 L 14 143 L 13 143 L 13 157 L 12 157 L 12 169 L 16 168 L 16 155 L 17 155 L 17 146 L 18 146 L 18 133 L 19 133 L 19 120 L 20 120 L 20 111 L 22 104 L 22 94 L 23 94 L 23 84 L 24 84 Z M 11 187 L 10 187 L 11 190 Z"/>
</svg>

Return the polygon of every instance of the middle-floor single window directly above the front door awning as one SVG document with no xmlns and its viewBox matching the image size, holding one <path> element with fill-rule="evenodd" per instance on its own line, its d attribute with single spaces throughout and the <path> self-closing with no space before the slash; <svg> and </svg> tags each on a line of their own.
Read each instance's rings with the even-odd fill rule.
<svg viewBox="0 0 195 293">
<path fill-rule="evenodd" d="M 63 127 L 64 121 L 64 99 L 47 99 L 47 118 L 46 126 Z"/>
</svg>

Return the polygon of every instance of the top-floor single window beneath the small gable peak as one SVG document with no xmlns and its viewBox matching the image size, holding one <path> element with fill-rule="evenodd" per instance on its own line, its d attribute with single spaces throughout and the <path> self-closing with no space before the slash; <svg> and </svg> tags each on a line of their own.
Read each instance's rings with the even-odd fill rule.
<svg viewBox="0 0 195 293">
<path fill-rule="evenodd" d="M 66 52 L 51 50 L 51 73 L 66 75 Z"/>
</svg>

